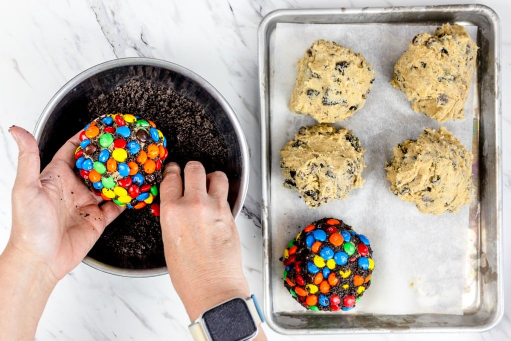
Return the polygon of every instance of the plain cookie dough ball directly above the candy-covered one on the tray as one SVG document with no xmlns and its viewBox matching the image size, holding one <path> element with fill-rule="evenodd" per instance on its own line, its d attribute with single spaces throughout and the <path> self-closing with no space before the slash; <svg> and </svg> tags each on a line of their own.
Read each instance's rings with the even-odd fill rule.
<svg viewBox="0 0 511 341">
<path fill-rule="evenodd" d="M 364 152 L 351 130 L 321 123 L 301 127 L 281 150 L 284 186 L 297 190 L 313 209 L 345 199 L 364 183 Z"/>
</svg>

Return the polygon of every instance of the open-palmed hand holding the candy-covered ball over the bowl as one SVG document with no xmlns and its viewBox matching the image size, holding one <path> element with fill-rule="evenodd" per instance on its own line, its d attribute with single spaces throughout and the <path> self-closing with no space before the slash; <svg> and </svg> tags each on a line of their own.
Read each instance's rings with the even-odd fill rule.
<svg viewBox="0 0 511 341">
<path fill-rule="evenodd" d="M 6 252 L 43 268 L 56 284 L 75 268 L 123 208 L 92 193 L 74 173 L 78 135 L 69 139 L 39 174 L 37 142 L 9 129 L 19 149 L 12 190 L 12 230 Z"/>
</svg>

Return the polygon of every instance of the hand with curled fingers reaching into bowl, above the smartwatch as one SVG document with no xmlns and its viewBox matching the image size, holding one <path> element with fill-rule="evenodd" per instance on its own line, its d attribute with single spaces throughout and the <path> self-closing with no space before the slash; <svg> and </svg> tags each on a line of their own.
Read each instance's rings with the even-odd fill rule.
<svg viewBox="0 0 511 341">
<path fill-rule="evenodd" d="M 241 244 L 231 214 L 227 176 L 199 162 L 167 165 L 160 184 L 160 223 L 169 274 L 191 321 L 233 297 L 247 299 Z"/>
</svg>

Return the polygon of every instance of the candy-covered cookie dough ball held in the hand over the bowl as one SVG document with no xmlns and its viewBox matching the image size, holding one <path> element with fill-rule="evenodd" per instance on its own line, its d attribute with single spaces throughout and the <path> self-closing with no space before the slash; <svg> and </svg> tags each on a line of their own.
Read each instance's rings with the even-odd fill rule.
<svg viewBox="0 0 511 341">
<path fill-rule="evenodd" d="M 167 139 L 154 122 L 133 115 L 109 114 L 89 123 L 80 133 L 76 167 L 85 184 L 105 200 L 141 209 L 153 203 L 161 182 Z"/>
</svg>

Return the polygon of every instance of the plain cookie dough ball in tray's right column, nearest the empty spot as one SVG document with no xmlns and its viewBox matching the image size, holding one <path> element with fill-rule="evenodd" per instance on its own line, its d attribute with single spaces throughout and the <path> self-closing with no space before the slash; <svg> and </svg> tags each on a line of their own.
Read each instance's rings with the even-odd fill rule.
<svg viewBox="0 0 511 341">
<path fill-rule="evenodd" d="M 424 128 L 394 147 L 385 164 L 390 191 L 422 213 L 457 212 L 472 196 L 472 153 L 446 128 Z"/>
</svg>

